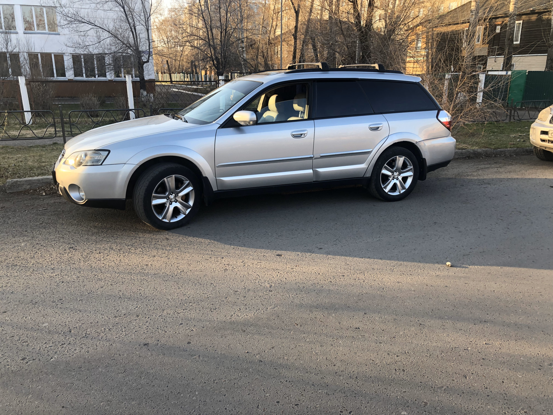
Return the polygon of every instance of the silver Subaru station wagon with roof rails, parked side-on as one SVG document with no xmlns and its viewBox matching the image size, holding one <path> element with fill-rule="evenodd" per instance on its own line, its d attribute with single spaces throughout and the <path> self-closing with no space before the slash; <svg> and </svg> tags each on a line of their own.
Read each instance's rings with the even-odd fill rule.
<svg viewBox="0 0 553 415">
<path fill-rule="evenodd" d="M 70 139 L 54 165 L 67 201 L 158 229 L 218 198 L 362 185 L 398 201 L 455 153 L 450 115 L 420 78 L 374 68 L 288 69 L 227 82 L 175 116 Z"/>
</svg>

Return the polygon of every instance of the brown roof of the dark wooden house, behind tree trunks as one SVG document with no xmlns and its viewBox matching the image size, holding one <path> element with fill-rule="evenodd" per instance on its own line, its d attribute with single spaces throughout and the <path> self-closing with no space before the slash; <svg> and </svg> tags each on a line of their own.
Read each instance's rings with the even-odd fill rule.
<svg viewBox="0 0 553 415">
<path fill-rule="evenodd" d="M 517 14 L 528 13 L 533 10 L 551 10 L 549 0 L 519 0 Z M 471 2 L 467 2 L 438 18 L 438 24 L 454 24 L 468 22 L 471 13 Z M 509 1 L 482 0 L 480 2 L 480 16 L 494 17 L 509 14 Z"/>
</svg>

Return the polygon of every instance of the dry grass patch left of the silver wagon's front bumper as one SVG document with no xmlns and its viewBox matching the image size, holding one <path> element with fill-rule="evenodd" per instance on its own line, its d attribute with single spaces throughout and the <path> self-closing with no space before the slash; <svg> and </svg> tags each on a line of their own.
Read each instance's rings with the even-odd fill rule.
<svg viewBox="0 0 553 415">
<path fill-rule="evenodd" d="M 0 185 L 8 179 L 45 176 L 64 145 L 61 143 L 44 146 L 0 146 Z"/>
</svg>

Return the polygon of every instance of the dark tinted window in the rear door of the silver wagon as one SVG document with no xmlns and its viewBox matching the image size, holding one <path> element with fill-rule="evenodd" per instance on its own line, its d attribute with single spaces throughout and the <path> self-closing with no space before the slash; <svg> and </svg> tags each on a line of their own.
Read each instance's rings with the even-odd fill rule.
<svg viewBox="0 0 553 415">
<path fill-rule="evenodd" d="M 373 112 L 357 81 L 317 82 L 316 118 L 346 117 Z"/>
</svg>

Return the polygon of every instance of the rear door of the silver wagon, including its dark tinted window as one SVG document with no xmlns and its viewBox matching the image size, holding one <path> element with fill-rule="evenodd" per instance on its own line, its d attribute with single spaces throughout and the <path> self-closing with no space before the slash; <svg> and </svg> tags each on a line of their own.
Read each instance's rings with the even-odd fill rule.
<svg viewBox="0 0 553 415">
<path fill-rule="evenodd" d="M 314 180 L 362 177 L 371 153 L 389 134 L 388 121 L 373 113 L 356 80 L 315 85 Z"/>
</svg>

